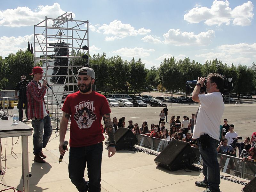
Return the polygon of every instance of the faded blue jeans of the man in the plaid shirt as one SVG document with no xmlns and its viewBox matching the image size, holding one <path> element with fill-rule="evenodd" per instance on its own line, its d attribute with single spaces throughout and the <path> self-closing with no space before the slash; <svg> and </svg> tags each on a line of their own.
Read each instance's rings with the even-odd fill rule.
<svg viewBox="0 0 256 192">
<path fill-rule="evenodd" d="M 52 124 L 51 117 L 47 115 L 43 119 L 32 119 L 32 127 L 34 130 L 33 134 L 33 144 L 34 144 L 34 154 L 38 154 L 45 148 L 51 135 L 52 135 Z"/>
</svg>

